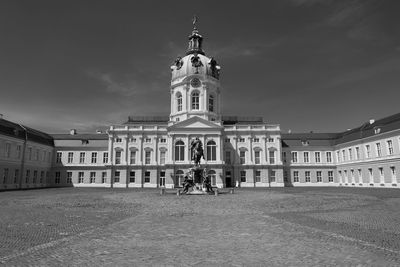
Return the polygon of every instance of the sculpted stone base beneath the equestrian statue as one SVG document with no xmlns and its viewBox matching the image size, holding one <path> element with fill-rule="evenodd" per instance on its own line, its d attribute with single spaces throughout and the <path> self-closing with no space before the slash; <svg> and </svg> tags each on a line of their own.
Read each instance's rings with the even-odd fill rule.
<svg viewBox="0 0 400 267">
<path fill-rule="evenodd" d="M 189 169 L 183 182 L 183 192 L 187 195 L 209 195 L 214 194 L 210 179 L 206 175 L 205 168 L 195 165 Z"/>
</svg>

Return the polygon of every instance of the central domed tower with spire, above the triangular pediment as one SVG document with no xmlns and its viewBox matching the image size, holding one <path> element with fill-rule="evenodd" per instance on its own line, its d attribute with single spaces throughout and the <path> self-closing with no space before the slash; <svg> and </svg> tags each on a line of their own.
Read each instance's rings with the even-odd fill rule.
<svg viewBox="0 0 400 267">
<path fill-rule="evenodd" d="M 203 37 L 193 22 L 186 55 L 171 66 L 170 124 L 194 116 L 221 122 L 219 74 L 221 67 L 203 51 Z"/>
</svg>

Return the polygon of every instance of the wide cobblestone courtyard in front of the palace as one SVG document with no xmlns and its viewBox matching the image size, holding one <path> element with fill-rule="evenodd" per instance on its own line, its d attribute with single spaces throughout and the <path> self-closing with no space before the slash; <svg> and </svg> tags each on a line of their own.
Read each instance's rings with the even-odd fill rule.
<svg viewBox="0 0 400 267">
<path fill-rule="evenodd" d="M 0 265 L 400 265 L 400 190 L 0 193 Z"/>
</svg>

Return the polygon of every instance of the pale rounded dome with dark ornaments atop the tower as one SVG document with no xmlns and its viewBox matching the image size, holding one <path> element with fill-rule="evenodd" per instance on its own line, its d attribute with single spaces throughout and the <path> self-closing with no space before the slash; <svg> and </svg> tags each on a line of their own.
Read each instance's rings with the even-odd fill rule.
<svg viewBox="0 0 400 267">
<path fill-rule="evenodd" d="M 220 69 L 214 58 L 197 53 L 189 54 L 183 58 L 178 57 L 171 66 L 172 81 L 190 75 L 204 75 L 219 79 Z"/>
</svg>

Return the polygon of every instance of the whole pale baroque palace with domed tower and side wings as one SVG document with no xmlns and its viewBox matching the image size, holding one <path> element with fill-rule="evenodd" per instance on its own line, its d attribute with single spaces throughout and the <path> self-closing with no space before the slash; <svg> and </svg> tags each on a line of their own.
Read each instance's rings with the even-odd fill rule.
<svg viewBox="0 0 400 267">
<path fill-rule="evenodd" d="M 107 133 L 46 134 L 0 118 L 0 190 L 177 188 L 193 165 L 215 187 L 398 187 L 400 114 L 340 133 L 283 134 L 259 117 L 223 116 L 220 70 L 196 27 L 171 66 L 169 116 L 131 116 Z"/>
</svg>

